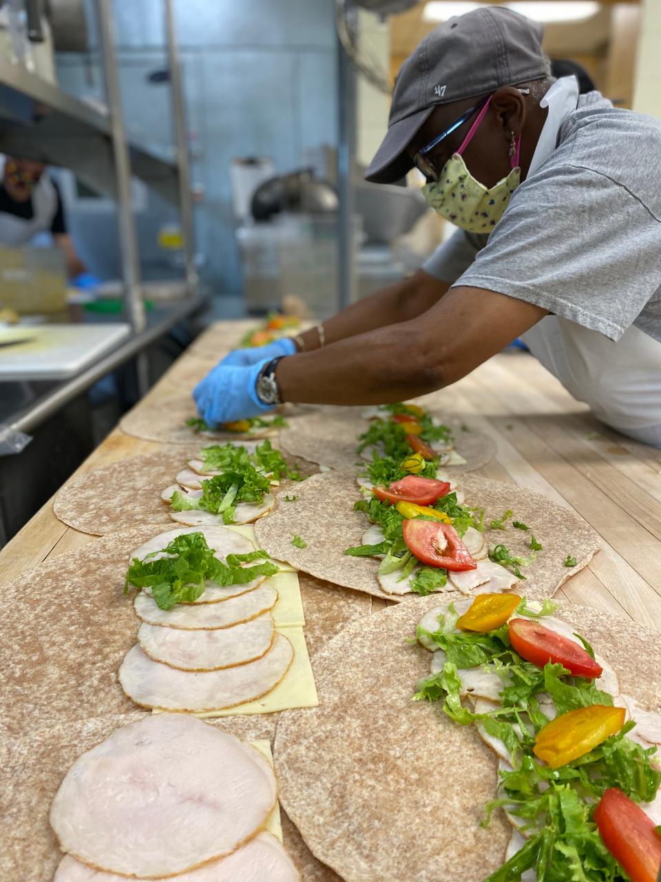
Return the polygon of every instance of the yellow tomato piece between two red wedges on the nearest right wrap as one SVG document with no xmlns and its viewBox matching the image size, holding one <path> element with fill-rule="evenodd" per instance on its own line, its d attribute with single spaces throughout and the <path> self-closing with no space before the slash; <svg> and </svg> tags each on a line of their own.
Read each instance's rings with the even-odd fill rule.
<svg viewBox="0 0 661 882">
<path fill-rule="evenodd" d="M 592 705 L 561 714 L 540 729 L 532 748 L 552 769 L 566 766 L 572 759 L 589 753 L 624 725 L 624 707 Z"/>
</svg>

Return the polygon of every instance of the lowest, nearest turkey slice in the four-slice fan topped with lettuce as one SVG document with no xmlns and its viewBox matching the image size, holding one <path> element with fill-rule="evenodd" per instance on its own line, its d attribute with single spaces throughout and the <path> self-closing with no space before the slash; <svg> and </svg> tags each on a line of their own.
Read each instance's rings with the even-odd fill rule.
<svg viewBox="0 0 661 882">
<path fill-rule="evenodd" d="M 292 644 L 282 634 L 276 634 L 271 649 L 256 662 L 195 673 L 154 662 L 136 646 L 124 656 L 119 682 L 137 705 L 201 714 L 261 698 L 279 684 L 292 662 Z"/>
</svg>

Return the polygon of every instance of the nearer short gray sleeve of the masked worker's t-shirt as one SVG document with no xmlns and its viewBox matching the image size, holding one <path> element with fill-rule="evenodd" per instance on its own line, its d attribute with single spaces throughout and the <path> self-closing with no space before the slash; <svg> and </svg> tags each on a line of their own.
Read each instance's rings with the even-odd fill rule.
<svg viewBox="0 0 661 882">
<path fill-rule="evenodd" d="M 619 340 L 661 284 L 661 221 L 601 173 L 547 167 L 517 188 L 455 284 L 535 303 Z"/>
</svg>

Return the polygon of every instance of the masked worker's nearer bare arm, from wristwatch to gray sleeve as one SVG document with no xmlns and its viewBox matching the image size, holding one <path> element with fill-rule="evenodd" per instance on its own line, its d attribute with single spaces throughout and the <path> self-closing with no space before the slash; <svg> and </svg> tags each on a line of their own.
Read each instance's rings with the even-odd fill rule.
<svg viewBox="0 0 661 882">
<path fill-rule="evenodd" d="M 547 310 L 483 288 L 451 288 L 422 315 L 285 358 L 282 400 L 381 404 L 455 383 Z"/>
</svg>

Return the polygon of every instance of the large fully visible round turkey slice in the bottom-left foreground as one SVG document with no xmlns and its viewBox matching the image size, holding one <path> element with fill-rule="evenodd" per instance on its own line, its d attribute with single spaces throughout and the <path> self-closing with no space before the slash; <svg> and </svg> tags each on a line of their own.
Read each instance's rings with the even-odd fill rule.
<svg viewBox="0 0 661 882">
<path fill-rule="evenodd" d="M 80 861 L 159 878 L 228 855 L 264 826 L 275 801 L 271 767 L 253 748 L 194 717 L 158 714 L 76 760 L 50 823 Z"/>
</svg>

